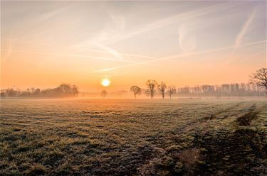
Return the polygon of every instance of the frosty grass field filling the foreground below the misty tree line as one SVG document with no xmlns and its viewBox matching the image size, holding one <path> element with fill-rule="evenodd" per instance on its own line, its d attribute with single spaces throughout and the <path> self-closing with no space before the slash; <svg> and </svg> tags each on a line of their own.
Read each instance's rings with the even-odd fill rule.
<svg viewBox="0 0 267 176">
<path fill-rule="evenodd" d="M 267 175 L 267 101 L 2 99 L 0 175 Z"/>
</svg>

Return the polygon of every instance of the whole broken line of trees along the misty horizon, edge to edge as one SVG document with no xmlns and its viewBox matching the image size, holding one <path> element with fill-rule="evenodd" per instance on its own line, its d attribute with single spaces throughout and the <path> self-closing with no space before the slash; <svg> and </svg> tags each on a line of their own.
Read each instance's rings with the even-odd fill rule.
<svg viewBox="0 0 267 176">
<path fill-rule="evenodd" d="M 149 79 L 145 82 L 147 89 L 141 89 L 137 85 L 130 87 L 130 92 L 135 99 L 138 94 L 145 92 L 151 99 L 156 94 L 160 94 L 162 99 L 166 96 L 172 99 L 174 94 L 187 97 L 239 97 L 239 96 L 264 96 L 267 93 L 267 68 L 256 70 L 251 75 L 248 83 L 221 84 L 221 85 L 201 85 L 196 87 L 175 87 L 165 82 L 157 82 Z M 72 84 L 60 84 L 53 89 L 28 88 L 26 91 L 19 89 L 2 89 L 1 97 L 77 97 L 79 94 L 78 87 Z M 108 92 L 103 90 L 100 95 L 106 97 Z"/>
</svg>

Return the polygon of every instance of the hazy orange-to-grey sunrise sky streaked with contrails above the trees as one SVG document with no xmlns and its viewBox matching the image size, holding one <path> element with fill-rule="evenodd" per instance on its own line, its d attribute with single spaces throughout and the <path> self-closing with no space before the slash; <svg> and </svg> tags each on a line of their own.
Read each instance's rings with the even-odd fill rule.
<svg viewBox="0 0 267 176">
<path fill-rule="evenodd" d="M 1 1 L 1 89 L 248 82 L 266 1 Z"/>
</svg>

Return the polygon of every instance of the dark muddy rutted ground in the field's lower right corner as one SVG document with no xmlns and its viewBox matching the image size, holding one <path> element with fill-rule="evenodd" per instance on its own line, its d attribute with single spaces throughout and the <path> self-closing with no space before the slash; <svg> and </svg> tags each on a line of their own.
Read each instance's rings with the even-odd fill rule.
<svg viewBox="0 0 267 176">
<path fill-rule="evenodd" d="M 145 170 L 152 172 L 145 175 L 267 175 L 265 132 L 242 128 L 249 127 L 262 110 L 252 104 L 248 109 L 241 109 L 246 114 L 239 114 L 234 110 L 240 105 L 223 109 L 170 132 L 168 139 L 172 143 L 162 143 L 163 152 L 150 160 L 150 169 L 146 167 Z M 224 116 L 236 118 L 234 124 L 229 123 L 234 131 L 210 131 L 208 122 L 212 119 L 226 119 Z M 206 126 L 206 129 L 196 131 L 199 126 Z M 189 142 L 184 140 L 184 136 L 192 136 L 194 139 Z M 157 139 L 161 141 L 160 137 Z M 177 148 L 181 143 L 191 145 Z M 174 148 L 168 150 L 168 145 Z"/>
</svg>

